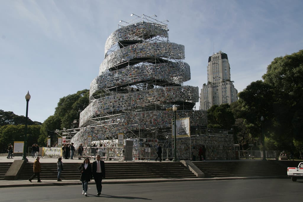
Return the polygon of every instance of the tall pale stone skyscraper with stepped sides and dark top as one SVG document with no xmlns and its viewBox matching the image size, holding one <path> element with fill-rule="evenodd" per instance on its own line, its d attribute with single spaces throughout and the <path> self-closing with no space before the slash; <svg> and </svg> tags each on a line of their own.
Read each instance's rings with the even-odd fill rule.
<svg viewBox="0 0 303 202">
<path fill-rule="evenodd" d="M 207 84 L 200 93 L 200 109 L 208 110 L 211 106 L 236 101 L 238 91 L 230 78 L 230 66 L 227 54 L 219 51 L 208 58 Z"/>
</svg>

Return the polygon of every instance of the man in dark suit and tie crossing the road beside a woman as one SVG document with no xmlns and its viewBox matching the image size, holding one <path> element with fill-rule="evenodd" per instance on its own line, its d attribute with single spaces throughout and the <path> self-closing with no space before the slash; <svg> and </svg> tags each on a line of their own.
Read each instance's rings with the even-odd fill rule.
<svg viewBox="0 0 303 202">
<path fill-rule="evenodd" d="M 93 176 L 97 187 L 97 195 L 100 196 L 102 191 L 102 178 L 105 178 L 104 161 L 100 160 L 100 155 L 96 156 L 97 161 L 93 162 Z"/>
</svg>

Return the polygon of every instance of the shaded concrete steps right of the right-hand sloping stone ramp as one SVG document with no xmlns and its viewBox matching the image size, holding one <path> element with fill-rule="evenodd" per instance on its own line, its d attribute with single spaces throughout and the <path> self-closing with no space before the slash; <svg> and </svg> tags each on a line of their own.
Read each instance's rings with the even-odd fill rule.
<svg viewBox="0 0 303 202">
<path fill-rule="evenodd" d="M 256 177 L 285 176 L 287 167 L 298 166 L 299 161 L 202 161 L 193 162 L 206 178 L 211 177 Z"/>
</svg>

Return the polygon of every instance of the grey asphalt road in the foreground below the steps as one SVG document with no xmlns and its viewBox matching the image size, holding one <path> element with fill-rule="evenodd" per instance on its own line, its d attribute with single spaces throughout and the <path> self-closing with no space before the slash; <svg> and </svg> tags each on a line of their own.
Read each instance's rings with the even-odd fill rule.
<svg viewBox="0 0 303 202">
<path fill-rule="evenodd" d="M 1 188 L 1 201 L 299 201 L 303 180 L 251 179 L 142 184 L 105 184 L 97 196 L 95 184 Z"/>
</svg>

